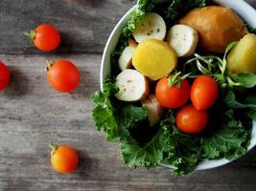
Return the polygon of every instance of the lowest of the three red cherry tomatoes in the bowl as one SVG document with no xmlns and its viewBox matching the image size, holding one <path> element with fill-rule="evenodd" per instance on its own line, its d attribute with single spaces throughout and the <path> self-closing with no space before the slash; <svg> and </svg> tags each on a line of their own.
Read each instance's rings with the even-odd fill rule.
<svg viewBox="0 0 256 191">
<path fill-rule="evenodd" d="M 197 134 L 203 130 L 208 122 L 206 110 L 198 111 L 190 104 L 181 108 L 176 115 L 177 128 L 187 134 Z"/>
</svg>

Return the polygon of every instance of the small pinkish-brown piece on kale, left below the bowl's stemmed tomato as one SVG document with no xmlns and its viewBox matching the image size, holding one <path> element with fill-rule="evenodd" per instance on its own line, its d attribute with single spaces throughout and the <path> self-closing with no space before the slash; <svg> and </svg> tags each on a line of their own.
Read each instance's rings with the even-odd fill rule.
<svg viewBox="0 0 256 191">
<path fill-rule="evenodd" d="M 154 95 L 150 95 L 142 100 L 142 105 L 147 108 L 150 126 L 152 127 L 161 119 L 164 108 L 160 105 Z"/>
</svg>

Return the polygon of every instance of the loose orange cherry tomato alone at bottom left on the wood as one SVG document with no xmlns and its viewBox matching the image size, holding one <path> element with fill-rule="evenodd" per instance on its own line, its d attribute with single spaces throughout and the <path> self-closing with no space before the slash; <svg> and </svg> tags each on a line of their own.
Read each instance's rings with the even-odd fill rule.
<svg viewBox="0 0 256 191">
<path fill-rule="evenodd" d="M 67 174 L 77 169 L 79 155 L 74 148 L 66 145 L 55 147 L 52 144 L 50 147 L 52 148 L 51 163 L 58 173 Z"/>
</svg>

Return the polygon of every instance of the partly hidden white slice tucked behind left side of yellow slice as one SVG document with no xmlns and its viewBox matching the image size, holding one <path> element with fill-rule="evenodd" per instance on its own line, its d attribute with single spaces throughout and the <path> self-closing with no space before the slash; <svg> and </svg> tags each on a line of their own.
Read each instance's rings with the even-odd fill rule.
<svg viewBox="0 0 256 191">
<path fill-rule="evenodd" d="M 132 55 L 135 51 L 135 47 L 128 46 L 118 59 L 118 65 L 121 71 L 131 68 Z"/>
</svg>

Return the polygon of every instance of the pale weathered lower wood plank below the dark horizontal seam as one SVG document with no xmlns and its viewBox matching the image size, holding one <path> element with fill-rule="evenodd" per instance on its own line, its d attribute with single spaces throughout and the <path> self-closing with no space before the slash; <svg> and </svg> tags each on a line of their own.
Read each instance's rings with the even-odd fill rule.
<svg viewBox="0 0 256 191">
<path fill-rule="evenodd" d="M 99 89 L 101 55 L 62 55 L 81 70 L 81 86 L 72 94 L 52 90 L 45 59 L 59 55 L 0 55 L 12 71 L 12 84 L 0 93 L 0 190 L 254 190 L 256 150 L 214 170 L 175 178 L 169 170 L 130 169 L 118 144 L 94 129 L 90 96 Z M 50 166 L 50 140 L 80 151 L 81 164 L 71 175 Z"/>
</svg>

